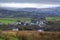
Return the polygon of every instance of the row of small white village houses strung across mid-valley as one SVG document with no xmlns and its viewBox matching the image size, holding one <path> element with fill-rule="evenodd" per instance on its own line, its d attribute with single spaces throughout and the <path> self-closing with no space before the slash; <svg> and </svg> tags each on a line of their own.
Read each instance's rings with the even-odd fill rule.
<svg viewBox="0 0 60 40">
<path fill-rule="evenodd" d="M 36 22 L 15 22 L 13 24 L 16 24 L 16 25 L 24 25 L 24 26 L 27 26 L 27 25 L 38 25 L 40 27 L 42 27 L 42 25 L 44 25 L 44 21 L 36 21 Z"/>
</svg>

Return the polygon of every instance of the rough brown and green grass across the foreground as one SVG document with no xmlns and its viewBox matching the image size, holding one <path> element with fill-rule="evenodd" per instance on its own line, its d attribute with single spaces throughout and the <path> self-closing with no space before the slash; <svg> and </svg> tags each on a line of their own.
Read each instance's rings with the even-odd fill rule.
<svg viewBox="0 0 60 40">
<path fill-rule="evenodd" d="M 60 40 L 60 32 L 0 31 L 0 40 Z"/>
</svg>

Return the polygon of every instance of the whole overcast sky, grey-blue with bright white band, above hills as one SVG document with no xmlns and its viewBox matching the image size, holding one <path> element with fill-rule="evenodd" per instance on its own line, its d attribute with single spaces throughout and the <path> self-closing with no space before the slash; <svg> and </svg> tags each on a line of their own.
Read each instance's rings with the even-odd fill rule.
<svg viewBox="0 0 60 40">
<path fill-rule="evenodd" d="M 15 7 L 15 8 L 60 7 L 60 0 L 0 0 L 0 7 Z"/>
</svg>

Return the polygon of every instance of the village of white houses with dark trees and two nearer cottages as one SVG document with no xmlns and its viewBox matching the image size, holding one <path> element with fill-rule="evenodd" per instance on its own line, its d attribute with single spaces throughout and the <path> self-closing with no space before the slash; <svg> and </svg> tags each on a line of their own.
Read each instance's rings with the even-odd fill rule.
<svg viewBox="0 0 60 40">
<path fill-rule="evenodd" d="M 40 30 L 42 31 L 42 27 L 45 27 L 45 19 L 39 18 L 39 19 L 32 19 L 31 22 L 21 22 L 20 20 L 17 20 L 17 22 L 5 25 L 3 23 L 0 23 L 0 27 L 2 27 L 2 30 L 12 30 L 12 31 L 18 31 L 18 30 Z"/>
</svg>

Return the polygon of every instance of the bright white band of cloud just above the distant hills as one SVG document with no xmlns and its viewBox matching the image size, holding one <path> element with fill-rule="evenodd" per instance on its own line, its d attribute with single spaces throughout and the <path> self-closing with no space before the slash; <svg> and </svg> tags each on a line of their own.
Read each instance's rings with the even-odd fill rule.
<svg viewBox="0 0 60 40">
<path fill-rule="evenodd" d="M 40 3 L 0 3 L 0 7 L 12 7 L 12 8 L 50 8 L 58 7 L 60 5 L 53 4 L 40 4 Z"/>
</svg>

